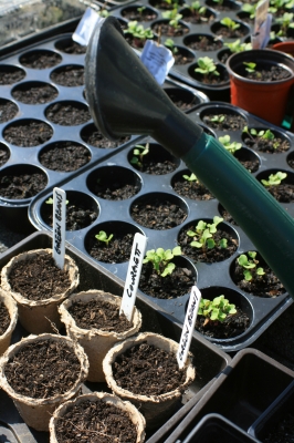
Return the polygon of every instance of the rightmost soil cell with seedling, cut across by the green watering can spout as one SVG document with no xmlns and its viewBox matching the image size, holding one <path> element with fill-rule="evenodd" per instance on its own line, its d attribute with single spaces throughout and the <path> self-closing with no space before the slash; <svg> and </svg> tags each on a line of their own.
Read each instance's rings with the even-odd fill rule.
<svg viewBox="0 0 294 443">
<path fill-rule="evenodd" d="M 244 265 L 249 262 L 254 265 L 254 267 L 246 269 L 244 266 L 239 265 L 240 260 Z M 241 290 L 252 293 L 255 297 L 276 298 L 286 292 L 272 269 L 266 265 L 261 255 L 254 250 L 245 251 L 237 257 L 231 264 L 230 275 L 233 282 Z"/>
</svg>

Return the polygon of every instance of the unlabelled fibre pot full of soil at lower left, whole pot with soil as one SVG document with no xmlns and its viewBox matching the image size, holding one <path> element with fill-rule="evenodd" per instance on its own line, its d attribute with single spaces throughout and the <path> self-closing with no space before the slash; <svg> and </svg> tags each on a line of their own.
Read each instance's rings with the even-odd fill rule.
<svg viewBox="0 0 294 443">
<path fill-rule="evenodd" d="M 20 378 L 20 383 L 15 379 L 13 363 L 19 373 L 25 373 L 22 378 L 27 387 L 23 379 Z M 29 336 L 1 357 L 0 384 L 24 422 L 36 431 L 48 432 L 54 410 L 77 395 L 87 371 L 83 348 L 70 338 L 50 333 Z"/>
</svg>

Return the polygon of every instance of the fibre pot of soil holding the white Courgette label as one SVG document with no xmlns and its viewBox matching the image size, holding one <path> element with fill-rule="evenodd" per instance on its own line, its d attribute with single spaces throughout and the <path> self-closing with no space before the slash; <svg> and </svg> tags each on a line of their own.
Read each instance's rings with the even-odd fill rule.
<svg viewBox="0 0 294 443">
<path fill-rule="evenodd" d="M 115 343 L 134 336 L 141 327 L 141 315 L 136 307 L 128 328 L 123 324 L 126 321 L 124 316 L 119 321 L 120 303 L 122 297 L 101 290 L 88 290 L 73 293 L 59 308 L 67 336 L 77 341 L 87 354 L 88 381 L 105 381 L 102 361 L 106 353 Z M 115 311 L 117 316 L 114 316 Z M 81 312 L 84 316 L 82 319 Z M 111 329 L 107 329 L 105 323 L 108 323 Z"/>
</svg>

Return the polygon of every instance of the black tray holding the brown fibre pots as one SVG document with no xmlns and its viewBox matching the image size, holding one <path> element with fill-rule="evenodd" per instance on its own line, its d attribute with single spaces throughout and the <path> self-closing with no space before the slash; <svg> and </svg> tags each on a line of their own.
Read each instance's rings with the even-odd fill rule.
<svg viewBox="0 0 294 443">
<path fill-rule="evenodd" d="M 34 233 L 27 237 L 18 245 L 10 248 L 1 255 L 0 270 L 15 255 L 23 251 L 51 248 L 52 236 L 50 233 Z M 93 264 L 88 257 L 84 256 L 76 248 L 66 244 L 66 254 L 69 254 L 78 266 L 80 286 L 77 291 L 101 289 L 112 292 L 116 296 L 123 295 L 122 281 L 103 267 Z M 139 296 L 136 300 L 137 308 L 143 316 L 143 331 L 151 331 L 160 333 L 172 340 L 179 341 L 181 334 L 180 326 L 160 312 L 153 301 L 145 296 Z M 61 331 L 62 332 L 62 331 Z M 18 342 L 22 337 L 28 336 L 23 328 L 18 324 L 12 336 L 12 342 Z M 185 392 L 182 401 L 178 404 L 174 415 L 161 425 L 158 430 L 153 431 L 153 434 L 147 434 L 146 443 L 156 443 L 165 441 L 166 436 L 172 431 L 177 423 L 192 409 L 192 406 L 201 399 L 204 392 L 213 385 L 217 377 L 225 370 L 231 362 L 231 358 L 223 351 L 213 347 L 202 337 L 192 338 L 191 352 L 196 357 L 195 365 L 197 368 L 197 377 L 193 383 Z M 83 393 L 92 391 L 108 391 L 106 383 L 90 383 L 86 382 L 83 387 Z M 12 400 L 1 390 L 0 391 L 0 432 L 1 441 L 11 443 L 48 443 L 49 433 L 36 432 L 27 426 L 20 418 Z M 2 440 L 8 439 L 8 440 Z"/>
</svg>

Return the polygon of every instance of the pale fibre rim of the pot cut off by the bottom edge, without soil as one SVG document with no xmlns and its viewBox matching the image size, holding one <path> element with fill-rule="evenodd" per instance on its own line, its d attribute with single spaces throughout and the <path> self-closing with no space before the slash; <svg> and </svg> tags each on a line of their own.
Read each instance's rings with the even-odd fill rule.
<svg viewBox="0 0 294 443">
<path fill-rule="evenodd" d="M 112 404 L 117 409 L 127 413 L 130 421 L 137 429 L 137 440 L 136 443 L 143 443 L 145 440 L 145 419 L 141 413 L 134 406 L 134 404 L 129 402 L 124 402 L 118 396 L 108 394 L 105 392 L 94 392 L 91 394 L 84 394 L 77 396 L 75 400 L 67 401 L 66 403 L 60 405 L 53 413 L 53 416 L 50 420 L 50 443 L 59 443 L 56 437 L 56 422 L 60 418 L 63 418 L 65 413 L 67 413 L 75 405 L 80 405 L 85 401 L 96 402 L 97 400 L 102 400 L 105 403 Z M 86 432 L 86 429 L 84 430 Z"/>
</svg>

